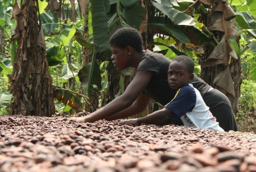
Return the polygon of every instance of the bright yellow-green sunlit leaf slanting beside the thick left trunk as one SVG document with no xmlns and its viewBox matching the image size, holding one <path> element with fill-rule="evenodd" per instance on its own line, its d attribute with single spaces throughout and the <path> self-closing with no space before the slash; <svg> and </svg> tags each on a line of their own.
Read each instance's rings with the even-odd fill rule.
<svg viewBox="0 0 256 172">
<path fill-rule="evenodd" d="M 73 25 L 68 26 L 62 32 L 60 32 L 56 37 L 54 37 L 50 42 L 46 44 L 46 49 L 58 46 L 66 45 L 75 33 L 75 28 Z"/>
</svg>

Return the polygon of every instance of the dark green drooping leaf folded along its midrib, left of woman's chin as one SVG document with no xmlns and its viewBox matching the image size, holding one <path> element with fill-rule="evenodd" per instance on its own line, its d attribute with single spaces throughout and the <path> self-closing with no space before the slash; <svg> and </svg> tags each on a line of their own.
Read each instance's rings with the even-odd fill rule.
<svg viewBox="0 0 256 172">
<path fill-rule="evenodd" d="M 91 64 L 92 62 L 88 63 L 86 66 L 81 68 L 78 72 L 78 77 L 82 87 L 88 87 Z M 101 75 L 100 75 L 100 69 L 97 63 L 94 63 L 90 84 L 96 85 L 98 89 L 101 89 Z"/>
</svg>

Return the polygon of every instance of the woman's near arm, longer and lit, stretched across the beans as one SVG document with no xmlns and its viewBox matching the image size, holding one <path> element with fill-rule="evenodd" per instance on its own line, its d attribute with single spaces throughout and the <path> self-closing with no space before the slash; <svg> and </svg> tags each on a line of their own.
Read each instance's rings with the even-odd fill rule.
<svg viewBox="0 0 256 172">
<path fill-rule="evenodd" d="M 104 119 L 108 116 L 116 114 L 125 108 L 131 106 L 131 104 L 137 99 L 140 93 L 146 88 L 152 77 L 152 72 L 147 70 L 141 70 L 136 73 L 130 84 L 125 89 L 124 93 L 105 105 L 104 107 L 98 109 L 97 111 L 85 116 L 80 117 L 78 122 L 94 122 L 100 119 Z M 120 117 L 122 118 L 122 117 Z"/>
</svg>

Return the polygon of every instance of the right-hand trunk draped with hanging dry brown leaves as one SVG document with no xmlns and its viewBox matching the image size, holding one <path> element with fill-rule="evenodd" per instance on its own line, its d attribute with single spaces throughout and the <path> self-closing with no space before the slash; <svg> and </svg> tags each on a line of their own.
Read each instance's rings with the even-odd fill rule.
<svg viewBox="0 0 256 172">
<path fill-rule="evenodd" d="M 219 11 L 219 10 L 222 11 Z M 212 30 L 218 45 L 213 48 L 205 45 L 204 57 L 201 60 L 201 78 L 227 96 L 231 103 L 232 110 L 239 109 L 240 84 L 241 84 L 241 63 L 240 58 L 229 45 L 229 40 L 239 40 L 236 36 L 237 24 L 230 21 L 235 13 L 227 2 L 218 0 L 212 6 L 208 16 L 204 18 L 204 24 Z M 217 21 L 221 20 L 219 24 Z M 238 44 L 239 45 L 239 44 Z"/>
</svg>

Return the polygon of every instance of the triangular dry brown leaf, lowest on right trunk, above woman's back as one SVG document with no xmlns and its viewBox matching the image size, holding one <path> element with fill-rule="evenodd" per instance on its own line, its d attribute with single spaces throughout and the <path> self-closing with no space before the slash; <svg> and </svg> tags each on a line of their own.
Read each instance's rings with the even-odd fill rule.
<svg viewBox="0 0 256 172">
<path fill-rule="evenodd" d="M 222 88 L 226 93 L 231 94 L 233 97 L 235 96 L 233 80 L 231 78 L 231 71 L 229 66 L 217 74 L 217 76 L 214 78 L 213 85 Z"/>
</svg>

